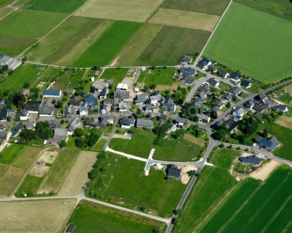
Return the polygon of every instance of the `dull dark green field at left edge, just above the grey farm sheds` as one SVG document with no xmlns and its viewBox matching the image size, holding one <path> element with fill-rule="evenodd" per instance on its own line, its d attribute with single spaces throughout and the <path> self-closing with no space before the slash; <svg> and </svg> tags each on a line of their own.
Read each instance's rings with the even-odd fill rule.
<svg viewBox="0 0 292 233">
<path fill-rule="evenodd" d="M 9 41 L 9 43 L 7 43 L 7 41 Z M 34 42 L 36 42 L 36 40 L 31 38 L 0 35 L 0 50 L 8 56 L 15 56 L 20 54 Z"/>
</svg>

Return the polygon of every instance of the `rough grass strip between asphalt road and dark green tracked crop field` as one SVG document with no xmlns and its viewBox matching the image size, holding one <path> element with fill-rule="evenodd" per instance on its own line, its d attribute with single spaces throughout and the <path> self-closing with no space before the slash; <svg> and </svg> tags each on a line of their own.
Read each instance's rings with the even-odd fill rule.
<svg viewBox="0 0 292 233">
<path fill-rule="evenodd" d="M 213 152 L 215 150 L 215 152 Z M 213 148 L 208 162 L 214 167 L 205 166 L 194 184 L 179 217 L 179 224 L 173 232 L 193 232 L 194 228 L 207 216 L 218 202 L 237 184 L 230 174 L 234 159 L 239 156 L 237 150 Z"/>
</svg>

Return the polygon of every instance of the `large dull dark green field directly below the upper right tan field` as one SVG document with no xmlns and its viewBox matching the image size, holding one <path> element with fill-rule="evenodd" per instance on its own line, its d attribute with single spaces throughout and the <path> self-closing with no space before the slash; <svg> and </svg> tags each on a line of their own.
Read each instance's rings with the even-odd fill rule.
<svg viewBox="0 0 292 233">
<path fill-rule="evenodd" d="M 210 31 L 164 26 L 133 65 L 173 66 L 183 54 L 200 53 L 210 34 Z"/>
</svg>

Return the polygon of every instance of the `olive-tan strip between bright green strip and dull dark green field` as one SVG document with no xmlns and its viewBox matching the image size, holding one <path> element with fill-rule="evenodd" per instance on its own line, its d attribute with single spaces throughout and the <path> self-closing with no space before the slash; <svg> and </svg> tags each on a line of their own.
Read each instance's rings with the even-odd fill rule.
<svg viewBox="0 0 292 233">
<path fill-rule="evenodd" d="M 146 23 L 125 45 L 111 66 L 132 66 L 143 50 L 163 28 L 163 25 Z"/>
</svg>

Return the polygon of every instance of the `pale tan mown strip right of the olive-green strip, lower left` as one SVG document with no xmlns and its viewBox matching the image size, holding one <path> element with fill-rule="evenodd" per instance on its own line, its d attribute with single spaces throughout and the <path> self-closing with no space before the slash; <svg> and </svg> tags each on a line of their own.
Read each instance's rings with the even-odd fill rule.
<svg viewBox="0 0 292 233">
<path fill-rule="evenodd" d="M 82 187 L 88 180 L 88 172 L 96 161 L 96 153 L 81 150 L 64 182 L 62 183 L 58 195 L 77 195 L 82 191 Z M 67 193 L 69 192 L 69 193 Z"/>
</svg>

